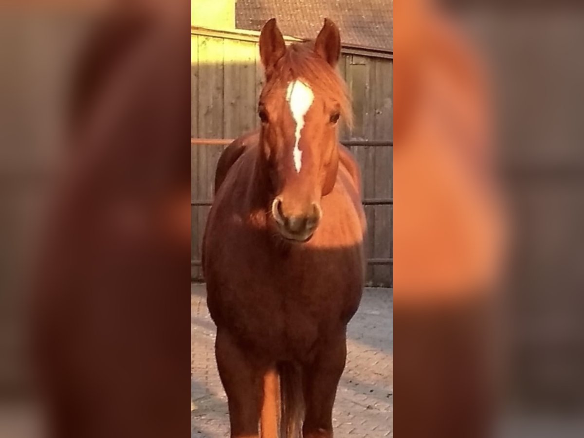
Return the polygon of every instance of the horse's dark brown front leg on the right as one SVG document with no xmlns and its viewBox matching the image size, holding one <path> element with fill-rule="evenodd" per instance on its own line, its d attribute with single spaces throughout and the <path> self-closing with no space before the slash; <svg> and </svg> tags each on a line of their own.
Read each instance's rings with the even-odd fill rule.
<svg viewBox="0 0 584 438">
<path fill-rule="evenodd" d="M 343 331 L 323 342 L 315 360 L 304 366 L 304 438 L 332 437 L 332 406 L 346 356 Z"/>
</svg>

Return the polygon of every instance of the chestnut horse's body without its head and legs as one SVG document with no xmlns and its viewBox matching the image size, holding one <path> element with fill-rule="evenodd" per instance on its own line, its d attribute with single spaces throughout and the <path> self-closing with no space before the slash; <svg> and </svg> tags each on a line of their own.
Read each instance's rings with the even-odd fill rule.
<svg viewBox="0 0 584 438">
<path fill-rule="evenodd" d="M 262 208 L 268 202 L 256 193 L 258 145 L 245 148 L 208 217 L 208 306 L 218 326 L 268 360 L 304 360 L 325 333 L 344 330 L 359 304 L 364 232 L 359 193 L 341 166 L 335 188 L 322 199 L 314 236 L 303 245 L 288 244 L 274 234 L 269 211 Z M 330 248 L 331 239 L 337 248 Z"/>
</svg>

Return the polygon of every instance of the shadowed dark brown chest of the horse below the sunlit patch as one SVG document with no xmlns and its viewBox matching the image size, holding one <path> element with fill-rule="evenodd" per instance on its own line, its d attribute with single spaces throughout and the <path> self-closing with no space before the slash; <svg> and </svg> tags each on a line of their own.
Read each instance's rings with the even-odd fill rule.
<svg viewBox="0 0 584 438">
<path fill-rule="evenodd" d="M 359 279 L 347 280 L 350 272 L 342 266 L 339 275 L 335 266 L 343 258 L 335 257 L 337 263 L 323 263 L 316 253 L 267 249 L 248 256 L 235 270 L 239 275 L 210 281 L 212 313 L 220 315 L 215 322 L 275 356 L 305 356 L 359 303 Z"/>
</svg>

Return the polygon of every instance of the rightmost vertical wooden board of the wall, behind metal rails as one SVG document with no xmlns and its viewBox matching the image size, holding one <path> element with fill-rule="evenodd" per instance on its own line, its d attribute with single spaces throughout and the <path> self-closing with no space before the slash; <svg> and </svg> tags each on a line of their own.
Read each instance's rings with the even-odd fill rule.
<svg viewBox="0 0 584 438">
<path fill-rule="evenodd" d="M 393 138 L 392 113 L 392 62 L 389 60 L 376 61 L 376 92 L 375 98 L 375 135 L 378 140 Z M 376 148 L 375 157 L 374 196 L 376 198 L 392 197 L 393 182 L 393 148 Z M 378 258 L 391 258 L 393 246 L 393 207 L 380 206 L 375 214 L 374 251 Z M 376 280 L 383 284 L 392 284 L 392 266 L 376 266 L 374 269 Z"/>
</svg>

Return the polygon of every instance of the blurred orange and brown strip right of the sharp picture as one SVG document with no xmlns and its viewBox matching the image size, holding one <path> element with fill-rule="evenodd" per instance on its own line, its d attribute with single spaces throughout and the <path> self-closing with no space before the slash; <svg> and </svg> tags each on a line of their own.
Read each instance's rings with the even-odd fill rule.
<svg viewBox="0 0 584 438">
<path fill-rule="evenodd" d="M 398 434 L 584 433 L 582 12 L 394 5 Z"/>
</svg>

